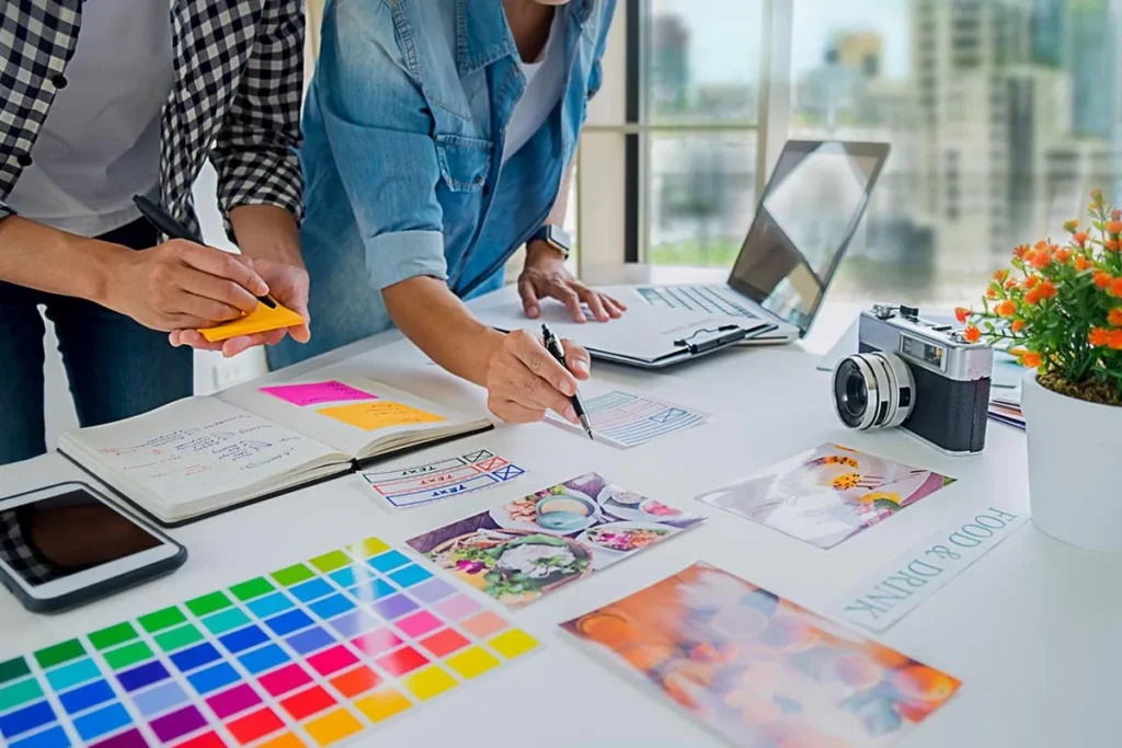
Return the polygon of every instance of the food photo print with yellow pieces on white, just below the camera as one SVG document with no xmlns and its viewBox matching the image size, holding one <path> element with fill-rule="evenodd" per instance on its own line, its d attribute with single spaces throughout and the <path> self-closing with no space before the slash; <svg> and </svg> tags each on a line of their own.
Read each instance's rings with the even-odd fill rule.
<svg viewBox="0 0 1122 748">
<path fill-rule="evenodd" d="M 831 548 L 953 482 L 930 470 L 822 444 L 698 498 Z"/>
</svg>

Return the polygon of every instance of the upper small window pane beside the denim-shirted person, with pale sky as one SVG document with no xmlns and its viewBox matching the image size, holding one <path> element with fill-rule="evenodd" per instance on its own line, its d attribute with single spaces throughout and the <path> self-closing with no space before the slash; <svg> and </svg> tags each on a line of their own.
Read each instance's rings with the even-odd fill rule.
<svg viewBox="0 0 1122 748">
<path fill-rule="evenodd" d="M 645 121 L 755 122 L 762 7 L 646 0 Z"/>
</svg>

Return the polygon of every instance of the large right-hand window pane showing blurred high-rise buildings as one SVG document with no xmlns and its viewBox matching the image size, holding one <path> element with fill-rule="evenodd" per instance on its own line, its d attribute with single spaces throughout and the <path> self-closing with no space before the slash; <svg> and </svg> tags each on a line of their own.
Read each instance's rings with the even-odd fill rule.
<svg viewBox="0 0 1122 748">
<path fill-rule="evenodd" d="M 1119 183 L 1107 0 L 798 0 L 791 138 L 892 145 L 834 299 L 975 301 Z"/>
</svg>

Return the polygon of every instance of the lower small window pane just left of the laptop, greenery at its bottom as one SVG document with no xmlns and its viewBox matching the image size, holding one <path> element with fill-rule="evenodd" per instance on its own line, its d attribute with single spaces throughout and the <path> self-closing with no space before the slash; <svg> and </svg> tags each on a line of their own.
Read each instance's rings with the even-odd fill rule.
<svg viewBox="0 0 1122 748">
<path fill-rule="evenodd" d="M 755 210 L 756 135 L 649 136 L 649 261 L 729 267 Z"/>
</svg>

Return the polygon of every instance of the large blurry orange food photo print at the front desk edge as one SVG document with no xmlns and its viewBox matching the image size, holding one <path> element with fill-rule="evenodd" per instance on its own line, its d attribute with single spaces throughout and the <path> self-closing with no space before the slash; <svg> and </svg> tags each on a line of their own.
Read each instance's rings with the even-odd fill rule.
<svg viewBox="0 0 1122 748">
<path fill-rule="evenodd" d="M 957 678 L 709 564 L 562 624 L 738 746 L 890 746 Z"/>
</svg>

